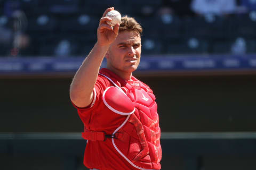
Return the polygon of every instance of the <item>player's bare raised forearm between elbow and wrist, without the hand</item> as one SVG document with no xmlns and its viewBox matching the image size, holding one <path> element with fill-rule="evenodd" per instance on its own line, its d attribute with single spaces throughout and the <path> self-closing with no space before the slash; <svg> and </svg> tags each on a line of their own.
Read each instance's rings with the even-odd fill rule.
<svg viewBox="0 0 256 170">
<path fill-rule="evenodd" d="M 96 43 L 76 72 L 70 86 L 70 98 L 78 107 L 91 103 L 92 91 L 108 47 Z"/>
</svg>

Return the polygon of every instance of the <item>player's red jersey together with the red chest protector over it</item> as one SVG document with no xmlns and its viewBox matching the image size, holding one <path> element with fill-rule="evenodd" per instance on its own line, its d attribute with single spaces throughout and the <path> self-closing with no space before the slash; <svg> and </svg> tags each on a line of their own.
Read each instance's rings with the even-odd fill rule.
<svg viewBox="0 0 256 170">
<path fill-rule="evenodd" d="M 125 81 L 101 69 L 93 101 L 77 108 L 85 131 L 115 138 L 88 140 L 84 165 L 100 170 L 161 169 L 162 150 L 157 105 L 153 91 L 132 77 Z"/>
</svg>

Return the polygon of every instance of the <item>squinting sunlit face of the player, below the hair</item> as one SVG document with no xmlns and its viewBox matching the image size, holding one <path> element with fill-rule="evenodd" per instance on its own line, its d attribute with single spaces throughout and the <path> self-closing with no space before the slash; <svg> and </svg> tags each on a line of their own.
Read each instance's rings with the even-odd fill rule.
<svg viewBox="0 0 256 170">
<path fill-rule="evenodd" d="M 123 31 L 106 54 L 107 67 L 114 72 L 132 73 L 140 63 L 141 39 L 138 32 Z"/>
</svg>

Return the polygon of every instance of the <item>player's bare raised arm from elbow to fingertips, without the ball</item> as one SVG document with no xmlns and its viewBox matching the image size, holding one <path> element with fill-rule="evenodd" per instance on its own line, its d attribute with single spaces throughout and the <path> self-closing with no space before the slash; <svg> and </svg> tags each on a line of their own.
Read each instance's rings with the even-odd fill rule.
<svg viewBox="0 0 256 170">
<path fill-rule="evenodd" d="M 105 17 L 114 7 L 107 8 L 100 19 L 97 29 L 97 43 L 92 48 L 90 54 L 85 58 L 82 65 L 75 74 L 70 86 L 70 99 L 78 107 L 88 106 L 93 98 L 93 88 L 98 77 L 100 65 L 107 50 L 118 35 L 119 24 L 113 28 L 106 22 L 112 19 Z"/>
</svg>

